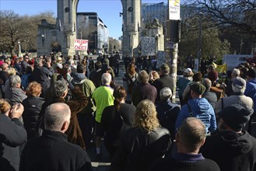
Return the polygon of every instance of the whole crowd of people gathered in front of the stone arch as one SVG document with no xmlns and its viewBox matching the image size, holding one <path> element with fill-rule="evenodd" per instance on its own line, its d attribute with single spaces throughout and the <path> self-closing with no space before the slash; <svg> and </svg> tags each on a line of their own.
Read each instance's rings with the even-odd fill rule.
<svg viewBox="0 0 256 171">
<path fill-rule="evenodd" d="M 177 104 L 169 65 L 127 56 L 121 75 L 120 60 L 3 55 L 0 170 L 92 170 L 103 145 L 110 170 L 256 170 L 254 65 L 226 82 L 185 68 Z"/>
</svg>

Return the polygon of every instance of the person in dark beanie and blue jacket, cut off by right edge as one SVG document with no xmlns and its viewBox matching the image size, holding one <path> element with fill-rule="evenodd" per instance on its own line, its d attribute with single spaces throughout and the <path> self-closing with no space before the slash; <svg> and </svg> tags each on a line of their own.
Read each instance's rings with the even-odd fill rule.
<svg viewBox="0 0 256 171">
<path fill-rule="evenodd" d="M 256 111 L 256 70 L 254 68 L 250 68 L 247 72 L 247 84 L 244 95 L 251 97 L 254 101 L 254 110 Z"/>
</svg>

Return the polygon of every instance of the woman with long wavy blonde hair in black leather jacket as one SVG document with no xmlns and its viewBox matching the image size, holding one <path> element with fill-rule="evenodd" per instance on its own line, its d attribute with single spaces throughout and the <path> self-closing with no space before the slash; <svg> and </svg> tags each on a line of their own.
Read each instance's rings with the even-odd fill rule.
<svg viewBox="0 0 256 171">
<path fill-rule="evenodd" d="M 152 162 L 162 158 L 170 145 L 170 133 L 160 126 L 156 106 L 144 99 L 136 108 L 134 127 L 121 134 L 110 170 L 149 170 Z"/>
</svg>

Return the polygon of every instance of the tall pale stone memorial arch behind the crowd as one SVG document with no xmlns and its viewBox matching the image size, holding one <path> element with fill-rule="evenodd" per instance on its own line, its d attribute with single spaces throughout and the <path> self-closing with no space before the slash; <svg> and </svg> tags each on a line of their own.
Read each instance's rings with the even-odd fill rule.
<svg viewBox="0 0 256 171">
<path fill-rule="evenodd" d="M 57 0 L 58 16 L 55 25 L 45 19 L 38 25 L 37 56 L 50 54 L 52 46 L 57 44 L 65 57 L 74 55 L 76 38 L 76 12 L 79 0 Z M 139 45 L 141 28 L 141 0 L 121 0 L 123 10 L 123 55 L 132 56 Z M 96 5 L 96 3 L 95 3 Z"/>
</svg>

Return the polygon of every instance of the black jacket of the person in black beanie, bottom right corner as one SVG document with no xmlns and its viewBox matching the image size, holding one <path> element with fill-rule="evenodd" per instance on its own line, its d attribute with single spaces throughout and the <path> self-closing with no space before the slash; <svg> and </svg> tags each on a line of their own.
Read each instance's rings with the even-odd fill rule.
<svg viewBox="0 0 256 171">
<path fill-rule="evenodd" d="M 219 131 L 206 138 L 201 152 L 205 158 L 216 161 L 223 171 L 253 171 L 256 167 L 256 139 L 247 131 L 242 134 Z"/>
</svg>

